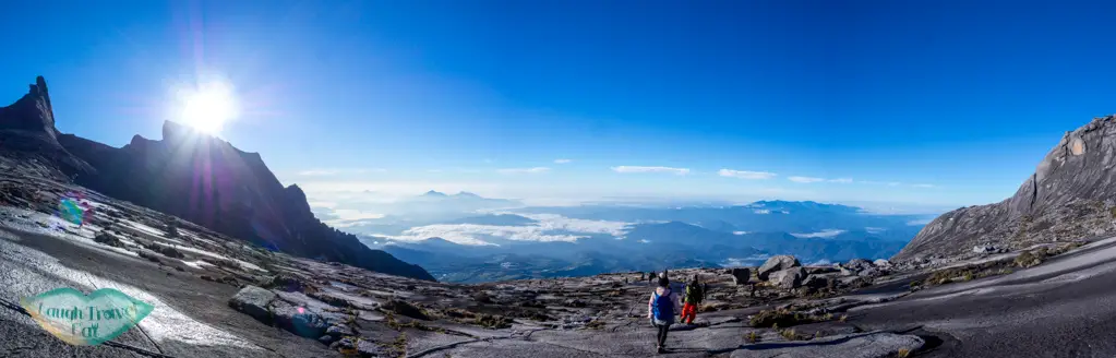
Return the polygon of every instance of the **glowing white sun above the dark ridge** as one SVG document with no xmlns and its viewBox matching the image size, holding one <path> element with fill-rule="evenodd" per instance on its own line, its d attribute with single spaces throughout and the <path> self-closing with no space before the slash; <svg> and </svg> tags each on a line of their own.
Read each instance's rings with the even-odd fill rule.
<svg viewBox="0 0 1116 358">
<path fill-rule="evenodd" d="M 221 133 L 224 124 L 238 115 L 232 88 L 224 83 L 203 84 L 181 91 L 179 100 L 179 122 L 208 134 Z"/>
</svg>

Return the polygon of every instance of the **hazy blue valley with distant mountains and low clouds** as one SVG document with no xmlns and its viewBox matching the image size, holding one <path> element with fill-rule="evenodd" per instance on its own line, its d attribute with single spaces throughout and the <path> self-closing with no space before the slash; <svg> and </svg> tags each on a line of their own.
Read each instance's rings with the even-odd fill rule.
<svg viewBox="0 0 1116 358">
<path fill-rule="evenodd" d="M 525 206 L 433 191 L 375 206 L 363 210 L 393 214 L 340 220 L 330 209 L 315 213 L 440 281 L 463 283 L 758 265 L 775 254 L 816 263 L 886 259 L 933 217 L 789 201 Z"/>
</svg>

